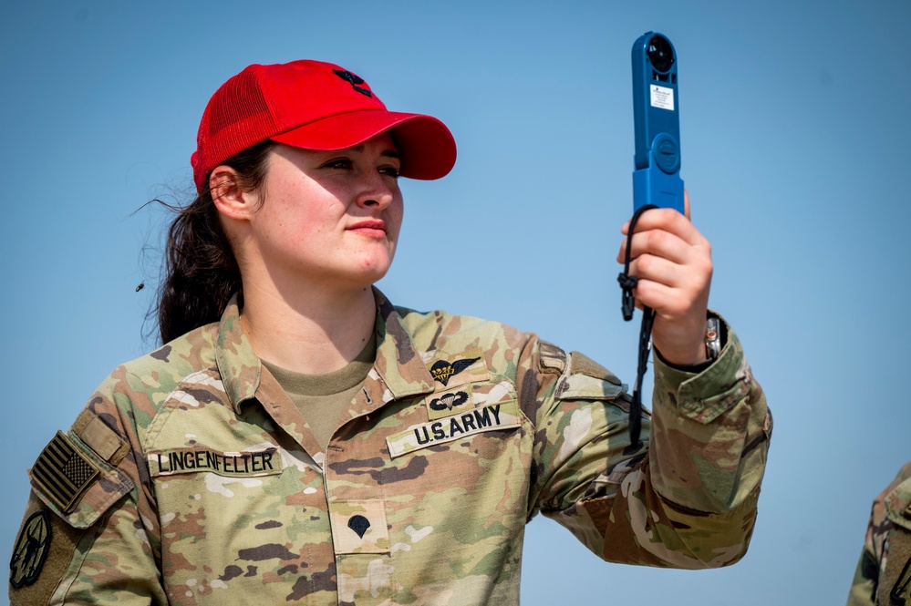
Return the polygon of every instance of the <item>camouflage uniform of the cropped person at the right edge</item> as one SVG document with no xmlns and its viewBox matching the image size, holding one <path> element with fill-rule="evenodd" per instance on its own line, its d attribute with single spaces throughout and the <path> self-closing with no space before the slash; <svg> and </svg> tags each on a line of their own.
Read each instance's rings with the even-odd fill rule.
<svg viewBox="0 0 911 606">
<path fill-rule="evenodd" d="M 873 502 L 848 606 L 911 606 L 911 462 Z"/>
</svg>

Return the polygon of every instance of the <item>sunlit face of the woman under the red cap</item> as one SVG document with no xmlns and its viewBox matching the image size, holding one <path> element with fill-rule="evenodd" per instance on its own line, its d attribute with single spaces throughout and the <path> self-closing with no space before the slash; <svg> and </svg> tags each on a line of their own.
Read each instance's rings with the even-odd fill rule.
<svg viewBox="0 0 911 606">
<path fill-rule="evenodd" d="M 388 134 L 336 151 L 278 145 L 259 195 L 243 256 L 274 281 L 360 288 L 388 272 L 403 211 Z"/>
</svg>

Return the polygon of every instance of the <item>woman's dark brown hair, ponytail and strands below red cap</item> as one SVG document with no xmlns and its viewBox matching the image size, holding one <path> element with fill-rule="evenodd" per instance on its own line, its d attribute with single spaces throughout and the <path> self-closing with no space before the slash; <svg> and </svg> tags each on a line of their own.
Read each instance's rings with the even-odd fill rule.
<svg viewBox="0 0 911 606">
<path fill-rule="evenodd" d="M 274 146 L 274 141 L 263 141 L 220 165 L 237 171 L 241 190 L 256 190 Z M 233 293 L 241 291 L 241 273 L 212 201 L 208 177 L 188 206 L 170 208 L 177 216 L 168 229 L 157 307 L 161 343 L 217 322 Z"/>
</svg>

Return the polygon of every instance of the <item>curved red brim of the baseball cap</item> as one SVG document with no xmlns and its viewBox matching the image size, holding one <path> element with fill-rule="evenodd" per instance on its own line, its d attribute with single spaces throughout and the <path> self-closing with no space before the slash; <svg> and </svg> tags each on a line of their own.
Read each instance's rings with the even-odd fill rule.
<svg viewBox="0 0 911 606">
<path fill-rule="evenodd" d="M 399 148 L 402 177 L 432 180 L 455 165 L 456 145 L 450 129 L 423 114 L 366 110 L 311 122 L 270 139 L 303 149 L 346 149 L 392 131 Z"/>
</svg>

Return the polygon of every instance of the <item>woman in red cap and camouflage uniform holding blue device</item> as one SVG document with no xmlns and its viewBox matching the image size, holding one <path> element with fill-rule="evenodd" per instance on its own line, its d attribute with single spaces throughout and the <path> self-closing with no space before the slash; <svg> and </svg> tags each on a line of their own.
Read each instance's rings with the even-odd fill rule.
<svg viewBox="0 0 911 606">
<path fill-rule="evenodd" d="M 629 398 L 585 355 L 372 287 L 399 176 L 438 179 L 455 155 L 439 120 L 334 65 L 251 66 L 214 94 L 199 197 L 171 225 L 164 345 L 30 470 L 13 603 L 514 604 L 538 511 L 605 560 L 740 559 L 771 419 L 726 327 L 707 359 L 708 242 L 676 211 L 639 223 L 660 354 L 630 444 Z"/>
</svg>

